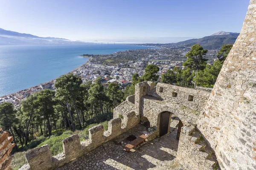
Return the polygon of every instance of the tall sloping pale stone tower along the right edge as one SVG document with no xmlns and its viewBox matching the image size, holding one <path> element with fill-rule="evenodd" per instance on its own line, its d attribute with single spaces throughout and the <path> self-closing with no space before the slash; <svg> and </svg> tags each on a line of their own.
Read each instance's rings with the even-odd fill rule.
<svg viewBox="0 0 256 170">
<path fill-rule="evenodd" d="M 197 124 L 222 169 L 256 169 L 256 0 Z"/>
</svg>

